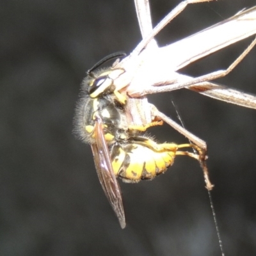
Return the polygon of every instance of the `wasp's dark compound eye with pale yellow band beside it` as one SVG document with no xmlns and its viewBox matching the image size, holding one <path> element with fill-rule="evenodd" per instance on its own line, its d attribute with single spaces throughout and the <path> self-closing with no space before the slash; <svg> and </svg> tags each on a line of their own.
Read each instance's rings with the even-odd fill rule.
<svg viewBox="0 0 256 256">
<path fill-rule="evenodd" d="M 92 86 L 88 87 L 88 93 L 90 97 L 98 97 L 101 93 L 104 93 L 106 90 L 108 90 L 112 83 L 112 79 L 110 79 L 108 76 L 97 77 L 93 81 Z"/>
</svg>

